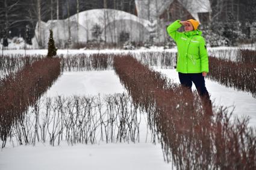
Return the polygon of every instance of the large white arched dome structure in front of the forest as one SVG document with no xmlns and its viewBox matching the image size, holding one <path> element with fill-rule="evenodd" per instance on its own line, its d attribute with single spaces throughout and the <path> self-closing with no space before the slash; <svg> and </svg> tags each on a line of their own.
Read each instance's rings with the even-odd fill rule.
<svg viewBox="0 0 256 170">
<path fill-rule="evenodd" d="M 47 47 L 49 29 L 53 31 L 54 41 L 58 47 L 65 47 L 69 39 L 69 32 L 72 43 L 86 43 L 89 40 L 94 40 L 93 27 L 95 25 L 101 29 L 101 40 L 108 43 L 118 43 L 121 32 L 128 33 L 130 41 L 146 41 L 149 38 L 150 22 L 148 20 L 140 19 L 124 11 L 97 9 L 83 11 L 78 15 L 70 16 L 69 19 L 41 22 L 42 45 Z M 34 43 L 40 40 L 39 32 L 37 23 Z M 36 44 L 38 45 L 38 43 Z"/>
</svg>

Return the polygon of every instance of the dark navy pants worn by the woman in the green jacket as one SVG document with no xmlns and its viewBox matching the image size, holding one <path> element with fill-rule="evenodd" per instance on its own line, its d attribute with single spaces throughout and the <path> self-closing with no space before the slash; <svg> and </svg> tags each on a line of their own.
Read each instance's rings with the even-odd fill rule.
<svg viewBox="0 0 256 170">
<path fill-rule="evenodd" d="M 205 80 L 204 80 L 204 76 L 202 76 L 202 73 L 185 74 L 185 73 L 179 72 L 179 79 L 180 79 L 181 85 L 183 85 L 183 87 L 189 88 L 190 91 L 192 91 L 192 82 L 195 84 L 196 90 L 198 91 L 198 94 L 202 99 L 202 104 L 205 108 L 205 111 L 208 114 L 213 114 L 210 96 L 205 87 Z"/>
</svg>

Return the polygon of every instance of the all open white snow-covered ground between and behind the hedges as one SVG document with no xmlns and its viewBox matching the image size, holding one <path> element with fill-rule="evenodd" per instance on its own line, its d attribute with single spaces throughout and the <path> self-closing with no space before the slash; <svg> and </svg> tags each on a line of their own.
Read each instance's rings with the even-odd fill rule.
<svg viewBox="0 0 256 170">
<path fill-rule="evenodd" d="M 220 48 L 220 50 L 225 48 Z M 219 49 L 218 49 L 219 50 Z M 161 52 L 163 49 L 130 50 L 69 50 L 69 53 L 119 53 L 119 52 Z M 169 49 L 175 52 L 176 49 Z M 5 50 L 5 54 L 23 53 L 23 50 Z M 46 55 L 47 50 L 27 50 L 27 54 Z M 58 54 L 66 54 L 67 50 L 58 50 Z M 178 73 L 174 69 L 154 68 L 167 77 L 179 82 Z M 217 82 L 206 79 L 206 87 L 211 100 L 216 105 L 235 106 L 234 115 L 249 116 L 250 126 L 256 126 L 256 99 L 249 93 L 226 88 Z M 195 87 L 193 86 L 195 90 Z M 113 70 L 64 72 L 45 94 L 55 96 L 97 96 L 101 94 L 123 93 L 125 88 Z M 232 109 L 232 108 L 230 108 Z M 140 142 L 136 144 L 118 143 L 95 145 L 66 143 L 59 147 L 48 144 L 4 148 L 0 152 L 0 169 L 172 169 L 172 163 L 164 162 L 160 144 L 152 144 L 146 140 L 145 121 L 140 124 Z M 175 168 L 173 168 L 175 169 Z"/>
</svg>

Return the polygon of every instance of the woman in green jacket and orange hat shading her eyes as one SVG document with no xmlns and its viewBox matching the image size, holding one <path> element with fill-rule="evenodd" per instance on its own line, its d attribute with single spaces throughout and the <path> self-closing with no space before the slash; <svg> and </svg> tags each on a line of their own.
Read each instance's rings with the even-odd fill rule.
<svg viewBox="0 0 256 170">
<path fill-rule="evenodd" d="M 212 115 L 211 100 L 204 80 L 209 72 L 208 53 L 204 37 L 201 36 L 202 31 L 198 30 L 198 25 L 199 22 L 193 19 L 176 20 L 167 27 L 167 32 L 178 47 L 176 70 L 181 85 L 191 90 L 193 82 L 202 99 L 205 112 Z M 181 26 L 185 27 L 185 32 L 177 31 Z"/>
</svg>

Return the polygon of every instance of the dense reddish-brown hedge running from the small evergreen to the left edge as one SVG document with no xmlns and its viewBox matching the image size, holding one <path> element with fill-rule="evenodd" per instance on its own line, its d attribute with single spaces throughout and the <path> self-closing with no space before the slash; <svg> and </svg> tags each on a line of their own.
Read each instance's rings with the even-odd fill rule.
<svg viewBox="0 0 256 170">
<path fill-rule="evenodd" d="M 33 105 L 60 76 L 60 59 L 43 58 L 27 63 L 23 70 L 0 80 L 0 135 L 6 141 L 11 124 L 21 121 Z M 5 142 L 3 142 L 4 147 Z"/>
</svg>

